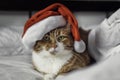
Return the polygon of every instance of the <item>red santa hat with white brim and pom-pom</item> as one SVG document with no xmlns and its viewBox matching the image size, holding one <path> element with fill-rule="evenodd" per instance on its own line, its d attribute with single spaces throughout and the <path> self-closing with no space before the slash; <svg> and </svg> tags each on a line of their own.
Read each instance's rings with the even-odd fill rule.
<svg viewBox="0 0 120 80">
<path fill-rule="evenodd" d="M 46 33 L 65 26 L 67 22 L 71 25 L 74 49 L 76 52 L 82 53 L 86 46 L 80 38 L 77 20 L 68 8 L 59 3 L 52 4 L 39 11 L 26 22 L 22 42 L 25 47 L 32 49 L 35 42 L 41 40 Z"/>
</svg>

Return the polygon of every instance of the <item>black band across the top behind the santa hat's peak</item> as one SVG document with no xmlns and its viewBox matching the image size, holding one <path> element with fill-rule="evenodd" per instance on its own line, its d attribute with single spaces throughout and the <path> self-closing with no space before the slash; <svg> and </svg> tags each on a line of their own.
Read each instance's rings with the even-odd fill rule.
<svg viewBox="0 0 120 80">
<path fill-rule="evenodd" d="M 35 11 L 56 2 L 66 5 L 72 11 L 115 11 L 120 8 L 120 1 L 117 0 L 0 0 L 0 10 Z"/>
</svg>

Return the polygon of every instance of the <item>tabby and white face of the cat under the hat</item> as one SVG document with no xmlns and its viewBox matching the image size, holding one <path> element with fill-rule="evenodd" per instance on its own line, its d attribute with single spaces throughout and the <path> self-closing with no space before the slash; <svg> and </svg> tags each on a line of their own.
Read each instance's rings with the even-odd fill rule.
<svg viewBox="0 0 120 80">
<path fill-rule="evenodd" d="M 36 41 L 34 51 L 44 56 L 66 55 L 73 50 L 73 39 L 70 34 L 70 26 L 55 29 L 42 40 Z"/>
</svg>

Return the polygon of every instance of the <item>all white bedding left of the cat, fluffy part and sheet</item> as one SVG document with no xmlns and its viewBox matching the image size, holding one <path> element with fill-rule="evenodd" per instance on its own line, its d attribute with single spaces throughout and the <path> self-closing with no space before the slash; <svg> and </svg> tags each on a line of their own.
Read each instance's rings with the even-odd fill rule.
<svg viewBox="0 0 120 80">
<path fill-rule="evenodd" d="M 22 26 L 0 27 L 0 80 L 41 80 L 21 43 Z"/>
</svg>

